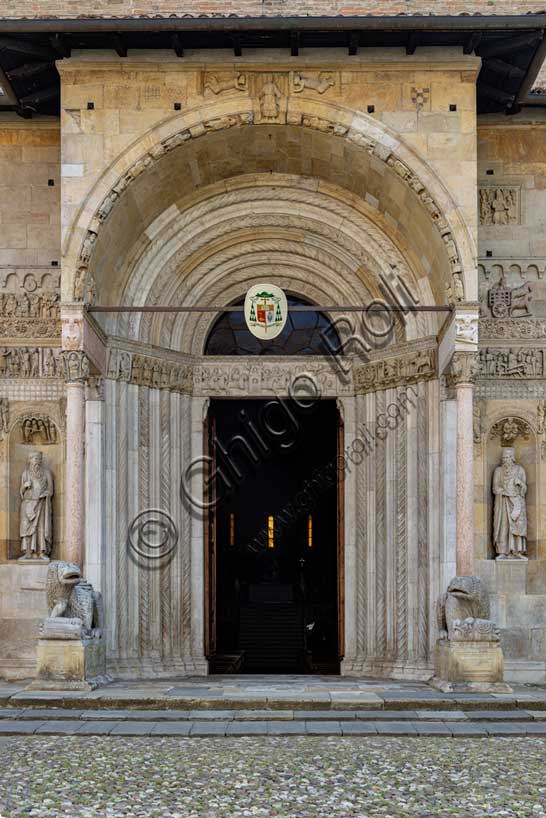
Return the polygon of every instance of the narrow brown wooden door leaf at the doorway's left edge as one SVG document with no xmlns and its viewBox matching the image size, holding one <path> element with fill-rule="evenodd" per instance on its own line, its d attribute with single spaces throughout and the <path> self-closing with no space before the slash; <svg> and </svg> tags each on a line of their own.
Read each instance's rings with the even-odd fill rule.
<svg viewBox="0 0 546 818">
<path fill-rule="evenodd" d="M 210 408 L 204 421 L 205 449 L 205 656 L 216 656 L 216 421 Z"/>
</svg>

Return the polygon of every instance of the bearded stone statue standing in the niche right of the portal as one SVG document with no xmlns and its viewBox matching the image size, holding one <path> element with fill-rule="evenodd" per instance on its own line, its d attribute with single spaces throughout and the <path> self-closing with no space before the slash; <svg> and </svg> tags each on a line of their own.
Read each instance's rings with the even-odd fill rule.
<svg viewBox="0 0 546 818">
<path fill-rule="evenodd" d="M 501 465 L 493 473 L 493 494 L 493 542 L 497 559 L 525 559 L 527 477 L 523 466 L 516 463 L 510 446 L 503 449 Z"/>
</svg>

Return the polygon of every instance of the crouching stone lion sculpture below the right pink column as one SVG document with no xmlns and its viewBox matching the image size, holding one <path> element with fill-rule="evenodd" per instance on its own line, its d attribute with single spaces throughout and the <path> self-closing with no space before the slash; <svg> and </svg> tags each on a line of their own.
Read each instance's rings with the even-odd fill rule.
<svg viewBox="0 0 546 818">
<path fill-rule="evenodd" d="M 489 619 L 489 596 L 479 577 L 453 577 L 438 605 L 440 638 L 453 642 L 498 642 Z"/>
</svg>

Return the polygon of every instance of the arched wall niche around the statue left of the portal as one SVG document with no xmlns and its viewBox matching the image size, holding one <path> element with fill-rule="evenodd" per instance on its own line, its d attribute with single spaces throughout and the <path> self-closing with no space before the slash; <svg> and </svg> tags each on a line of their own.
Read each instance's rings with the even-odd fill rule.
<svg viewBox="0 0 546 818">
<path fill-rule="evenodd" d="M 19 559 L 21 475 L 31 452 L 42 453 L 44 465 L 53 474 L 53 546 L 52 559 L 61 556 L 63 539 L 64 434 L 57 403 L 22 404 L 10 402 L 10 429 L 7 447 L 7 557 Z"/>
</svg>

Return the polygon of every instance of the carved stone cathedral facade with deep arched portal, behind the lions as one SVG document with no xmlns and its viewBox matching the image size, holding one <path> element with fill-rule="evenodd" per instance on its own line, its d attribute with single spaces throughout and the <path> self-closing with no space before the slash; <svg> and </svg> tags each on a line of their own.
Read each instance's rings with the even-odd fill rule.
<svg viewBox="0 0 546 818">
<path fill-rule="evenodd" d="M 0 674 L 63 559 L 114 678 L 428 679 L 462 575 L 544 684 L 544 16 L 93 5 L 0 21 Z"/>
</svg>

